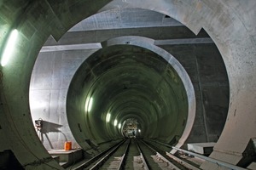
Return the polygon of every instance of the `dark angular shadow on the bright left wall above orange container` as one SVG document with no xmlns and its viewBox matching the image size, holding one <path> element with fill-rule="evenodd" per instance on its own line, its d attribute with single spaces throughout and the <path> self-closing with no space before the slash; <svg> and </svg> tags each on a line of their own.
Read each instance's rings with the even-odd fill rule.
<svg viewBox="0 0 256 170">
<path fill-rule="evenodd" d="M 64 136 L 65 140 L 67 141 L 67 136 L 65 135 L 65 133 L 62 133 L 60 130 L 61 127 L 62 127 L 62 125 L 60 125 L 60 124 L 42 120 L 42 128 L 40 130 L 38 130 L 38 137 L 43 144 L 44 144 L 45 139 L 47 139 L 47 141 L 49 142 L 50 148 L 54 149 L 54 146 L 51 143 L 48 134 L 49 133 L 61 133 Z"/>
</svg>

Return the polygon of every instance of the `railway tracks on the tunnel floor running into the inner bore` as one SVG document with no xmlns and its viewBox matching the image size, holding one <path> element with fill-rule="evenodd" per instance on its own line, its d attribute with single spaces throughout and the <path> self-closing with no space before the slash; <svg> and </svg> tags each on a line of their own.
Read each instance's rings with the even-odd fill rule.
<svg viewBox="0 0 256 170">
<path fill-rule="evenodd" d="M 187 162 L 179 160 L 168 152 L 158 149 L 141 139 L 127 139 L 114 145 L 79 166 L 67 169 L 193 169 L 198 170 Z"/>
</svg>

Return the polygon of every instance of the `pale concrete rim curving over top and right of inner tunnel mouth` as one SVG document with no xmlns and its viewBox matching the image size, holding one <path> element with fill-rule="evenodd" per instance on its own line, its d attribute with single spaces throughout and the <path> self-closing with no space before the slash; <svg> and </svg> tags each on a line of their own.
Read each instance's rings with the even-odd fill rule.
<svg viewBox="0 0 256 170">
<path fill-rule="evenodd" d="M 127 37 L 116 37 L 109 39 L 106 42 L 102 42 L 102 47 L 108 47 L 112 45 L 119 44 L 130 44 L 135 45 L 142 48 L 147 48 L 153 51 L 155 54 L 159 54 L 162 58 L 166 59 L 166 61 L 172 65 L 175 71 L 177 71 L 177 75 L 181 78 L 183 82 L 183 86 L 186 90 L 186 94 L 188 97 L 188 119 L 186 122 L 185 129 L 183 131 L 183 135 L 178 140 L 176 147 L 181 147 L 185 140 L 188 139 L 189 133 L 193 127 L 195 121 L 195 90 L 193 84 L 189 78 L 188 73 L 184 70 L 183 66 L 175 59 L 172 54 L 166 52 L 166 50 L 159 48 L 154 45 L 154 40 L 147 37 L 136 37 L 136 36 L 127 36 Z M 171 152 L 174 154 L 177 150 L 172 150 Z"/>
</svg>

